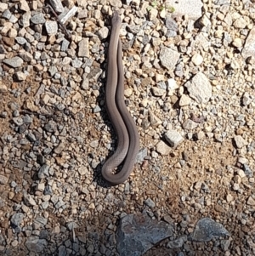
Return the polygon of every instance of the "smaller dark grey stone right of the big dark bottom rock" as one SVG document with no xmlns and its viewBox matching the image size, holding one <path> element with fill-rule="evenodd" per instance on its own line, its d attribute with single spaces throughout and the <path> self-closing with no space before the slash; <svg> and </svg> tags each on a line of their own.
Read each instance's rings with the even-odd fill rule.
<svg viewBox="0 0 255 256">
<path fill-rule="evenodd" d="M 208 242 L 212 240 L 212 238 L 220 236 L 230 236 L 230 234 L 223 225 L 210 218 L 203 218 L 196 223 L 195 230 L 190 234 L 189 240 L 195 242 Z"/>
</svg>

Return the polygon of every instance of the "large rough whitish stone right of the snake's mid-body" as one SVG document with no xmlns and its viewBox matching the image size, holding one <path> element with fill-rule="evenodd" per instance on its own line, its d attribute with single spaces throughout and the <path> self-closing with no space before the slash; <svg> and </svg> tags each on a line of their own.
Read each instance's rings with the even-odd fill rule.
<svg viewBox="0 0 255 256">
<path fill-rule="evenodd" d="M 198 72 L 184 86 L 188 89 L 190 97 L 198 103 L 207 103 L 212 97 L 212 85 L 202 72 Z"/>
</svg>

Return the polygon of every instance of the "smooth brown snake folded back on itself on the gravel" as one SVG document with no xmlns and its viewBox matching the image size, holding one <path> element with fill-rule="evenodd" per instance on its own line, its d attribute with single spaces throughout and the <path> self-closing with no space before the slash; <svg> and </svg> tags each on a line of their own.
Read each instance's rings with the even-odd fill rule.
<svg viewBox="0 0 255 256">
<path fill-rule="evenodd" d="M 111 37 L 108 48 L 105 106 L 111 124 L 116 131 L 117 146 L 114 154 L 105 161 L 102 176 L 112 185 L 118 185 L 132 173 L 139 152 L 139 134 L 124 100 L 124 71 L 122 42 L 119 38 L 122 20 L 115 11 L 111 18 Z M 114 171 L 122 164 L 116 174 Z"/>
</svg>

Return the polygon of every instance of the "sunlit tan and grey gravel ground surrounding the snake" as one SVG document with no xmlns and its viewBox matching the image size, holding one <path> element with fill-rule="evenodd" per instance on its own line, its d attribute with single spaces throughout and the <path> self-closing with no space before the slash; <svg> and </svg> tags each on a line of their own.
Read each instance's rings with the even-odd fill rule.
<svg viewBox="0 0 255 256">
<path fill-rule="evenodd" d="M 146 256 L 254 255 L 254 1 L 58 2 L 0 3 L 0 254 L 119 255 L 120 219 L 147 213 L 174 233 Z M 111 187 L 115 9 L 140 151 Z M 205 217 L 229 236 L 187 239 Z"/>
</svg>

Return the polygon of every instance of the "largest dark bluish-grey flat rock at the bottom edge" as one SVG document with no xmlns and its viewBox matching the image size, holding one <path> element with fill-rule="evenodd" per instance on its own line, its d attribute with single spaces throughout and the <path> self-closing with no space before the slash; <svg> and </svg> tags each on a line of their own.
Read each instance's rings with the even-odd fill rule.
<svg viewBox="0 0 255 256">
<path fill-rule="evenodd" d="M 168 236 L 173 236 L 172 225 L 147 214 L 128 214 L 117 229 L 117 250 L 122 256 L 139 256 Z"/>
</svg>

